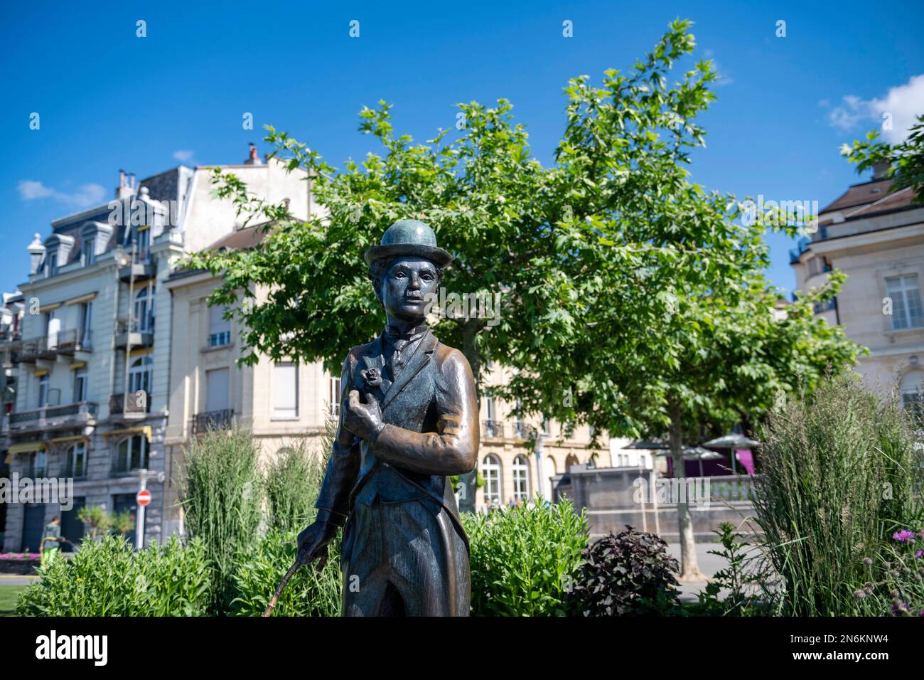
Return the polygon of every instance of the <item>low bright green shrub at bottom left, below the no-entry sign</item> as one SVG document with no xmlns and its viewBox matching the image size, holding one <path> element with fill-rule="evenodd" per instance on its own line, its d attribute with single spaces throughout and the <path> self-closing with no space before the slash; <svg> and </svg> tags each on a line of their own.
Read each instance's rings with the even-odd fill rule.
<svg viewBox="0 0 924 680">
<path fill-rule="evenodd" d="M 84 538 L 73 559 L 38 569 L 19 595 L 20 616 L 204 616 L 210 570 L 201 541 L 135 551 L 120 536 Z"/>
</svg>

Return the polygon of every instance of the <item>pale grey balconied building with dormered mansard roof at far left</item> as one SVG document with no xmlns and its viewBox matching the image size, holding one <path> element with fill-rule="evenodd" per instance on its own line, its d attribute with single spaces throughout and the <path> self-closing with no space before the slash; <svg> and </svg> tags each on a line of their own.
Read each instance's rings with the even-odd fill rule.
<svg viewBox="0 0 924 680">
<path fill-rule="evenodd" d="M 288 198 L 293 214 L 307 216 L 303 173 L 286 173 L 274 160 L 264 165 L 255 152 L 223 168 L 250 192 Z M 36 234 L 30 244 L 11 367 L 18 389 L 2 439 L 10 476 L 71 480 L 73 506 L 7 504 L 6 550 L 36 550 L 55 514 L 62 535 L 77 540 L 83 506 L 134 513 L 141 470 L 152 491 L 145 543 L 177 530 L 170 505 L 177 471 L 165 439 L 171 340 L 189 320 L 175 317 L 164 280 L 187 253 L 246 219 L 213 200 L 211 178 L 209 167 L 180 166 L 136 187 L 120 173 L 114 201 L 55 220 L 49 236 Z"/>
</svg>

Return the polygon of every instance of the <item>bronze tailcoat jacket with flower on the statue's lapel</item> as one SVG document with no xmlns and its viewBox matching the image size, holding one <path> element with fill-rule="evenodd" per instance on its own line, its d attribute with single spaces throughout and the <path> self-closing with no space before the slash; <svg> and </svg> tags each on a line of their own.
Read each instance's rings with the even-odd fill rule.
<svg viewBox="0 0 924 680">
<path fill-rule="evenodd" d="M 342 525 L 355 503 L 374 507 L 429 497 L 452 520 L 444 532 L 455 530 L 468 550 L 448 476 L 471 472 L 477 462 L 479 412 L 471 367 L 462 352 L 440 343 L 428 328 L 393 381 L 383 348 L 380 335 L 346 356 L 341 421 L 315 503 L 319 519 Z M 343 427 L 352 389 L 359 390 L 360 401 L 372 395 L 382 407 L 384 427 L 372 442 Z M 348 540 L 345 535 L 345 557 Z M 449 576 L 468 579 L 468 569 Z"/>
</svg>

